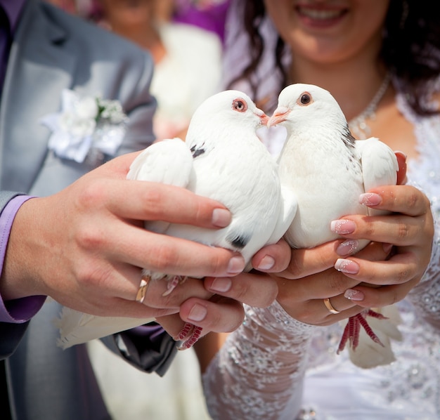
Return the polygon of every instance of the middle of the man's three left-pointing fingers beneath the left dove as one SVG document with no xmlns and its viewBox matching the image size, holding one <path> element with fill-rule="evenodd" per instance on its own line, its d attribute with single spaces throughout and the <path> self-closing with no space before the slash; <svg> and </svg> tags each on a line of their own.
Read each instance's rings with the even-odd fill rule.
<svg viewBox="0 0 440 420">
<path fill-rule="evenodd" d="M 205 287 L 212 293 L 257 308 L 271 305 L 278 294 L 278 286 L 272 277 L 254 273 L 235 277 L 206 277 Z"/>
</svg>

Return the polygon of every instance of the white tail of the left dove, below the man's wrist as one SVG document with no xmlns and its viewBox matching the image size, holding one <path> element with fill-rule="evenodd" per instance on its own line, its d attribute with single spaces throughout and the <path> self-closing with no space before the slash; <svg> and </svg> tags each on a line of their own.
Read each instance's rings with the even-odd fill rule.
<svg viewBox="0 0 440 420">
<path fill-rule="evenodd" d="M 98 317 L 63 307 L 54 324 L 60 330 L 57 346 L 66 348 L 138 327 L 155 318 Z"/>
</svg>

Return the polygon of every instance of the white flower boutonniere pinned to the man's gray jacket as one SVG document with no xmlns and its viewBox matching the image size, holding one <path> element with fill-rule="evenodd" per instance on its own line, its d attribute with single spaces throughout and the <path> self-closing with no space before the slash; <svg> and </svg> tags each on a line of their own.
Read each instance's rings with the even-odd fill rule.
<svg viewBox="0 0 440 420">
<path fill-rule="evenodd" d="M 117 100 L 83 97 L 64 89 L 61 111 L 40 122 L 52 131 L 48 148 L 58 157 L 82 163 L 89 152 L 113 156 L 124 138 L 127 115 Z"/>
</svg>

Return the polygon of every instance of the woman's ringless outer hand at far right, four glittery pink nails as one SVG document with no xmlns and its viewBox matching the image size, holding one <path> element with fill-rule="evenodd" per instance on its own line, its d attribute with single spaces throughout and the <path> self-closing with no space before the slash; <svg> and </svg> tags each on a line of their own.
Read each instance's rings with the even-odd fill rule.
<svg viewBox="0 0 440 420">
<path fill-rule="evenodd" d="M 431 207 L 429 199 L 409 185 L 376 188 L 362 195 L 361 199 L 366 206 L 392 211 L 393 214 L 344 217 L 348 222 L 342 225 L 348 233 L 342 236 L 392 244 L 391 255 L 387 261 L 365 262 L 358 261 L 356 254 L 356 257 L 337 261 L 335 268 L 347 277 L 380 286 L 380 289 L 371 289 L 361 285 L 349 291 L 351 299 L 356 299 L 359 306 L 385 306 L 401 301 L 425 273 L 434 237 Z"/>
</svg>

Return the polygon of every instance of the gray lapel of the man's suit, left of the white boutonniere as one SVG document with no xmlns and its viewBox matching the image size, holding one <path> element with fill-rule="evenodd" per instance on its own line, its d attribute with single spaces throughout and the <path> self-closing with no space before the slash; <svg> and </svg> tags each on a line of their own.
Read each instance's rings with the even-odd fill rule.
<svg viewBox="0 0 440 420">
<path fill-rule="evenodd" d="M 50 136 L 39 119 L 58 112 L 61 91 L 72 86 L 76 58 L 46 13 L 39 1 L 27 1 L 11 48 L 0 108 L 1 190 L 30 190 Z"/>
</svg>

